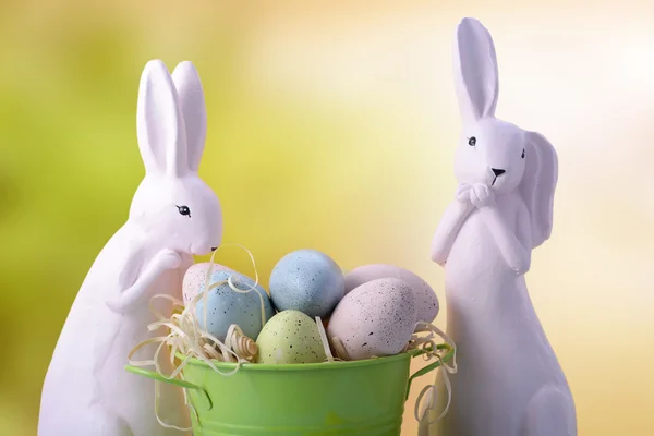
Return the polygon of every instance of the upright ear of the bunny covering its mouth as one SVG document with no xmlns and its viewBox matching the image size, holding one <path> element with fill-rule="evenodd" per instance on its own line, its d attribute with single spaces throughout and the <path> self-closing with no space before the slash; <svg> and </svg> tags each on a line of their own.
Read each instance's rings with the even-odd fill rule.
<svg viewBox="0 0 654 436">
<path fill-rule="evenodd" d="M 495 116 L 497 58 L 491 34 L 475 19 L 463 19 L 455 41 L 455 80 L 464 122 Z"/>
</svg>

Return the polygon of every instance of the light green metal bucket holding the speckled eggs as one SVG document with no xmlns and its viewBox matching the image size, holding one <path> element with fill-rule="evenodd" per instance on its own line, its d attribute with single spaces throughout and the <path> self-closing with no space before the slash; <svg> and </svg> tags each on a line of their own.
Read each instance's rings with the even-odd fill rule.
<svg viewBox="0 0 654 436">
<path fill-rule="evenodd" d="M 444 361 L 453 351 L 447 344 Z M 222 376 L 197 359 L 184 366 L 185 380 L 168 380 L 141 367 L 132 373 L 187 389 L 195 436 L 398 436 L 411 382 L 439 366 L 434 362 L 410 376 L 414 350 L 352 362 L 244 364 Z M 181 356 L 184 359 L 184 356 Z M 221 372 L 234 363 L 216 362 Z"/>
</svg>

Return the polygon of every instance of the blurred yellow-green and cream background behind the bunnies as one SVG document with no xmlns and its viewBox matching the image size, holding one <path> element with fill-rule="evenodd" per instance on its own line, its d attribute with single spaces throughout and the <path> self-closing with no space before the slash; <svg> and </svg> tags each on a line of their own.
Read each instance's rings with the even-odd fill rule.
<svg viewBox="0 0 654 436">
<path fill-rule="evenodd" d="M 201 174 L 225 242 L 264 283 L 287 252 L 427 279 L 452 198 L 451 43 L 491 31 L 497 114 L 560 160 L 555 228 L 528 282 L 580 435 L 654 428 L 654 5 L 644 1 L 0 2 L 0 434 L 36 433 L 68 310 L 143 175 L 146 61 L 192 60 L 209 117 Z M 226 249 L 218 262 L 250 271 Z M 445 326 L 445 311 L 436 323 Z M 416 363 L 416 367 L 422 362 Z M 403 434 L 415 434 L 414 386 Z"/>
</svg>

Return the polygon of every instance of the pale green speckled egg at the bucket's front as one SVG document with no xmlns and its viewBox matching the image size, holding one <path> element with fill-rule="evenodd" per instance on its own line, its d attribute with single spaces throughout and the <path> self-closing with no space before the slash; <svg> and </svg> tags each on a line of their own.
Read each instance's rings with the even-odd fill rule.
<svg viewBox="0 0 654 436">
<path fill-rule="evenodd" d="M 257 363 L 318 363 L 327 360 L 318 325 L 299 311 L 275 315 L 256 339 Z"/>
</svg>

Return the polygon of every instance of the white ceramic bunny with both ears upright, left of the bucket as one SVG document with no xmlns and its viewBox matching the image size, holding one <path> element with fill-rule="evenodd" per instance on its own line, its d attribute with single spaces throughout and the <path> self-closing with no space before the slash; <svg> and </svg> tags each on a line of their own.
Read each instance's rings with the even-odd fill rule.
<svg viewBox="0 0 654 436">
<path fill-rule="evenodd" d="M 150 296 L 181 300 L 192 255 L 208 254 L 221 242 L 220 203 L 197 174 L 205 135 L 204 95 L 193 64 L 180 63 L 171 76 L 164 62 L 148 62 L 137 106 L 145 178 L 126 223 L 96 258 L 65 320 L 44 383 L 39 436 L 182 434 L 157 422 L 155 382 L 124 366 L 136 344 L 158 336 L 147 331 L 155 320 Z M 168 355 L 159 361 L 170 370 L 164 364 Z M 160 384 L 159 415 L 189 426 L 179 388 Z"/>
</svg>

